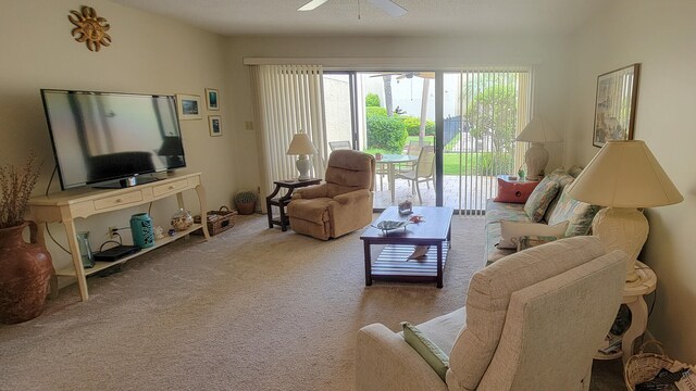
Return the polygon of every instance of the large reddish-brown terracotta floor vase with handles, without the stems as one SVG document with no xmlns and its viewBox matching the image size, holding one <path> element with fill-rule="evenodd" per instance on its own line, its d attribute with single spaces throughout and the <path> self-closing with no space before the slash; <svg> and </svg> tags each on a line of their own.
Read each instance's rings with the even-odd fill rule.
<svg viewBox="0 0 696 391">
<path fill-rule="evenodd" d="M 30 242 L 22 237 L 29 227 Z M 36 224 L 0 229 L 0 323 L 16 324 L 41 314 L 53 272 L 51 254 L 36 242 Z"/>
</svg>

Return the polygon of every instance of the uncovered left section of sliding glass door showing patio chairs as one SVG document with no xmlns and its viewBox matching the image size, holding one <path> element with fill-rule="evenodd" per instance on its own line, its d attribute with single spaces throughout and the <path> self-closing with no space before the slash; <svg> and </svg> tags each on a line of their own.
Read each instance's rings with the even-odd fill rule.
<svg viewBox="0 0 696 391">
<path fill-rule="evenodd" d="M 434 72 L 324 75 L 330 146 L 350 141 L 352 149 L 375 155 L 376 210 L 407 198 L 435 205 L 434 78 Z"/>
</svg>

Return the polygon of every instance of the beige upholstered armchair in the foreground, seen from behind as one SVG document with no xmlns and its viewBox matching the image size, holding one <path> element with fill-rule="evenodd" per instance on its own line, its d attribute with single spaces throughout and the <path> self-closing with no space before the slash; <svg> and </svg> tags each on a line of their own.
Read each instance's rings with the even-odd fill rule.
<svg viewBox="0 0 696 391">
<path fill-rule="evenodd" d="M 474 275 L 463 308 L 417 326 L 449 358 L 442 378 L 403 333 L 373 324 L 358 332 L 357 389 L 587 390 L 625 262 L 595 237 L 504 257 Z"/>
</svg>

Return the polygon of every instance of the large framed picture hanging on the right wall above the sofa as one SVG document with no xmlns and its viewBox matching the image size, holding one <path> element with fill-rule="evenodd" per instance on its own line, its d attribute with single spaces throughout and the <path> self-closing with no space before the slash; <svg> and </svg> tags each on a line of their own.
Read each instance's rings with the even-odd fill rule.
<svg viewBox="0 0 696 391">
<path fill-rule="evenodd" d="M 633 64 L 597 77 L 593 146 L 633 140 L 639 73 L 641 64 Z"/>
</svg>

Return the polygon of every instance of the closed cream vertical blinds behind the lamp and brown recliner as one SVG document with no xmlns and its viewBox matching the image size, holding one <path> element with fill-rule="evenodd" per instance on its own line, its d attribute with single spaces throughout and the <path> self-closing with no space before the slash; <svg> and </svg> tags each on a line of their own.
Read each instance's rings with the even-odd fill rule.
<svg viewBox="0 0 696 391">
<path fill-rule="evenodd" d="M 287 149 L 296 133 L 309 135 L 318 153 L 309 156 L 310 175 L 326 171 L 328 149 L 324 121 L 321 65 L 254 65 L 250 67 L 257 128 L 261 193 L 273 191 L 274 180 L 297 178 L 297 156 Z M 265 209 L 265 204 L 262 205 Z M 266 211 L 264 211 L 266 212 Z"/>
</svg>

